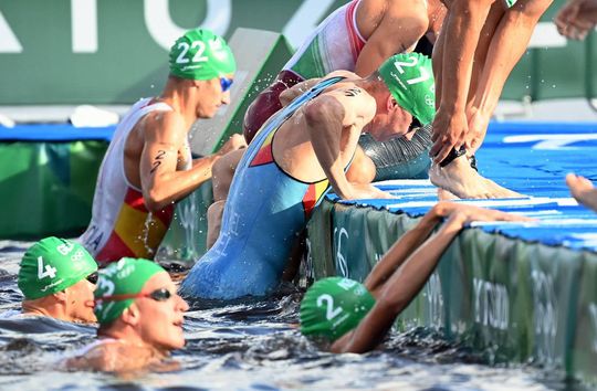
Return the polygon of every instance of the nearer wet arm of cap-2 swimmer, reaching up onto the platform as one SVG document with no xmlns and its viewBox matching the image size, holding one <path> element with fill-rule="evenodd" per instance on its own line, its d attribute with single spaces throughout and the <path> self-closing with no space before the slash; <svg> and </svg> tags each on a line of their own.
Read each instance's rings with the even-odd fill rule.
<svg viewBox="0 0 597 391">
<path fill-rule="evenodd" d="M 429 237 L 391 274 L 391 277 L 388 278 L 378 292 L 375 306 L 371 310 L 355 330 L 334 342 L 332 351 L 359 353 L 374 349 L 386 337 L 396 317 L 400 315 L 423 287 L 451 241 L 469 222 L 531 220 L 500 211 L 458 203 L 440 204 L 438 209 L 434 211 L 431 210 L 429 213 L 432 214 L 430 221 L 437 219 L 439 215 L 443 215 L 448 220 L 442 224 L 438 233 Z M 422 237 L 429 234 L 428 222 L 421 221 L 421 223 L 426 225 L 418 232 L 418 235 L 421 235 L 421 237 L 407 237 L 409 247 L 412 246 L 412 242 L 421 241 Z M 398 242 L 398 246 L 401 245 L 401 242 L 402 240 Z M 398 250 L 394 252 L 390 250 L 380 263 L 402 263 L 399 258 L 391 260 L 394 256 L 400 257 L 402 254 Z"/>
</svg>

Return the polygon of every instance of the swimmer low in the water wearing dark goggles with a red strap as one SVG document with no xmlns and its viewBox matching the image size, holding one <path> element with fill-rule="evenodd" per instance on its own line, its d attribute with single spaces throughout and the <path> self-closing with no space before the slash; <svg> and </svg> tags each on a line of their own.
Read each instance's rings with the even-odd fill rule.
<svg viewBox="0 0 597 391">
<path fill-rule="evenodd" d="M 98 339 L 65 363 L 72 369 L 127 372 L 171 369 L 166 359 L 185 346 L 184 313 L 169 274 L 147 260 L 123 258 L 102 270 L 95 315 Z"/>
</svg>

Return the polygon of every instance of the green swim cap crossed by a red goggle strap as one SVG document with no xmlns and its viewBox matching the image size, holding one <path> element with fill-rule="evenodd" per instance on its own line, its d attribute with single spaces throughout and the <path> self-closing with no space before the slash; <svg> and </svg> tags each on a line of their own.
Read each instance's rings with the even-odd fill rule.
<svg viewBox="0 0 597 391">
<path fill-rule="evenodd" d="M 97 323 L 107 325 L 116 320 L 135 302 L 134 298 L 104 302 L 102 297 L 136 295 L 143 290 L 149 278 L 161 272 L 166 271 L 155 262 L 128 257 L 100 271 L 97 286 L 93 293 Z"/>
</svg>

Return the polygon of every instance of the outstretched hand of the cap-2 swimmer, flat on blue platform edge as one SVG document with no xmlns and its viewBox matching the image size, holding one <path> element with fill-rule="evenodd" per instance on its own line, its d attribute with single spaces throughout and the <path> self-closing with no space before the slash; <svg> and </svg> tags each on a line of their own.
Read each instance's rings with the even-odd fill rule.
<svg viewBox="0 0 597 391">
<path fill-rule="evenodd" d="M 535 221 L 535 219 L 526 218 L 524 215 L 468 205 L 464 203 L 444 201 L 438 202 L 433 207 L 433 213 L 437 213 L 437 216 L 444 219 L 458 215 L 462 225 L 469 224 L 473 221 Z"/>
</svg>

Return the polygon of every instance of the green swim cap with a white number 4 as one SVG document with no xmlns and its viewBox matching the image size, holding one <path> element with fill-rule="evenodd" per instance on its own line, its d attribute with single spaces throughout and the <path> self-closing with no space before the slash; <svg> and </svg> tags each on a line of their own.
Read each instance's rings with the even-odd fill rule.
<svg viewBox="0 0 597 391">
<path fill-rule="evenodd" d="M 33 244 L 19 270 L 19 289 L 34 300 L 64 290 L 97 271 L 97 264 L 78 243 L 54 236 Z"/>
</svg>

